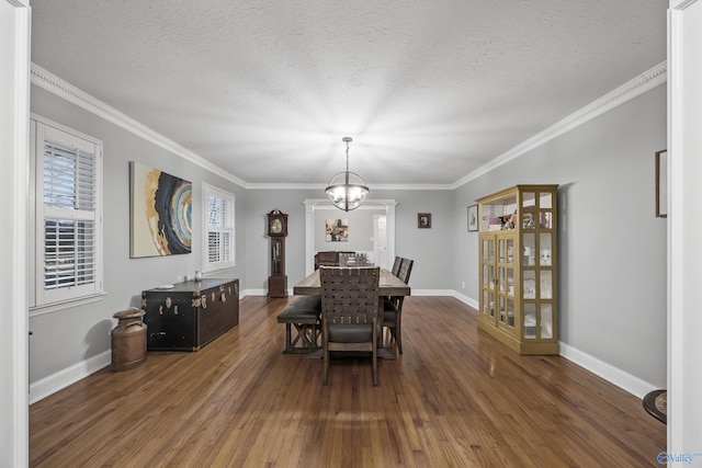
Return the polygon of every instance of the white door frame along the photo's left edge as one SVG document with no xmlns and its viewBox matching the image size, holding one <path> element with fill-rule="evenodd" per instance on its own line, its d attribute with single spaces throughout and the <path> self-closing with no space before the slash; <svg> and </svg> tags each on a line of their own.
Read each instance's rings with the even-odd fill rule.
<svg viewBox="0 0 702 468">
<path fill-rule="evenodd" d="M 29 311 L 26 276 L 30 176 L 29 0 L 0 1 L 0 193 L 8 208 L 0 232 L 0 466 L 29 466 Z M 9 66 L 8 66 L 9 65 Z"/>
</svg>

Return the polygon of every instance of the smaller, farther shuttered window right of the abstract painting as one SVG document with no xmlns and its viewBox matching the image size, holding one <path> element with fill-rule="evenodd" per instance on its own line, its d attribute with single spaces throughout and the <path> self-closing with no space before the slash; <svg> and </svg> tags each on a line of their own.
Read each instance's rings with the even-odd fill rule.
<svg viewBox="0 0 702 468">
<path fill-rule="evenodd" d="M 236 265 L 234 195 L 212 185 L 203 184 L 203 213 L 207 216 L 203 222 L 203 271 L 230 269 Z"/>
</svg>

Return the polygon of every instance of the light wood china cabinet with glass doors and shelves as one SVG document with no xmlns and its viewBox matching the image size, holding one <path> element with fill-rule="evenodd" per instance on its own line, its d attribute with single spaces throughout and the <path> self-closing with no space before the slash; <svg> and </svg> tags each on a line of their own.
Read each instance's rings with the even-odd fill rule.
<svg viewBox="0 0 702 468">
<path fill-rule="evenodd" d="M 477 199 L 478 327 L 520 354 L 558 354 L 558 185 Z"/>
</svg>

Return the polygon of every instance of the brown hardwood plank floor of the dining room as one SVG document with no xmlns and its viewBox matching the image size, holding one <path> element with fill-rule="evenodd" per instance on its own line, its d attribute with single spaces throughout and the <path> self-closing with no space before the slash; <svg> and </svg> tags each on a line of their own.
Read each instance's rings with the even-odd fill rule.
<svg viewBox="0 0 702 468">
<path fill-rule="evenodd" d="M 450 297 L 409 297 L 404 354 L 282 354 L 288 299 L 246 297 L 196 353 L 149 353 L 30 408 L 33 467 L 658 466 L 666 426 L 559 356 L 519 356 Z"/>
</svg>

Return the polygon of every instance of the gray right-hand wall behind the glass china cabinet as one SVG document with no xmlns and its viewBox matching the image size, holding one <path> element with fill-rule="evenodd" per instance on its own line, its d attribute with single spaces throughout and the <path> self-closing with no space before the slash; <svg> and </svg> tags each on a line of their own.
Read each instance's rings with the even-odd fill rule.
<svg viewBox="0 0 702 468">
<path fill-rule="evenodd" d="M 666 141 L 660 85 L 456 190 L 451 287 L 478 298 L 468 205 L 518 183 L 561 184 L 561 341 L 665 388 L 667 239 L 654 153 Z"/>
</svg>

